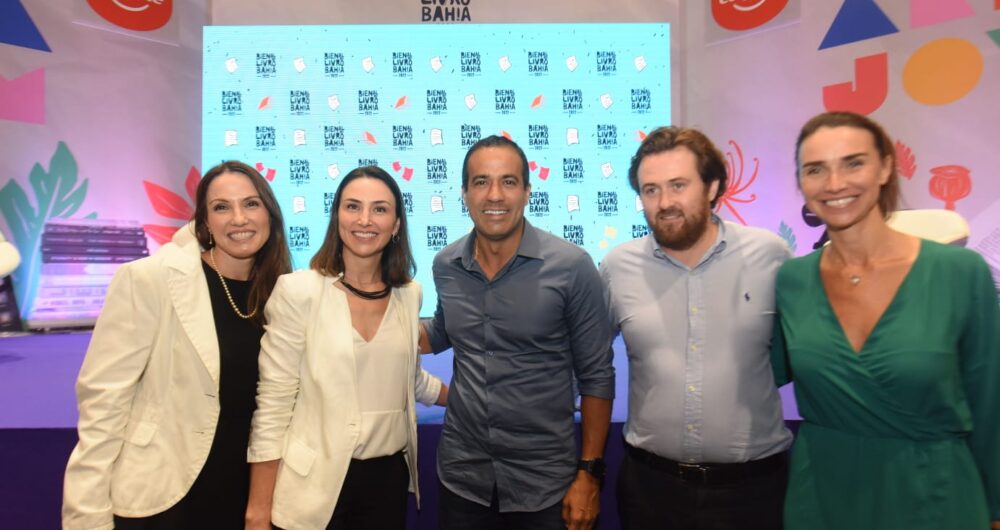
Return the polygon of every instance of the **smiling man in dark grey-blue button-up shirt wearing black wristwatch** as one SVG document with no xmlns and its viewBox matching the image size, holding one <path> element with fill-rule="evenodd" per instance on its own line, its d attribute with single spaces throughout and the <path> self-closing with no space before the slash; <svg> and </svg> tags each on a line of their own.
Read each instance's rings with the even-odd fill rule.
<svg viewBox="0 0 1000 530">
<path fill-rule="evenodd" d="M 528 162 L 512 141 L 474 145 L 462 190 L 475 229 L 434 259 L 438 306 L 422 340 L 455 353 L 438 445 L 441 527 L 590 528 L 614 397 L 597 269 L 524 219 Z"/>
</svg>

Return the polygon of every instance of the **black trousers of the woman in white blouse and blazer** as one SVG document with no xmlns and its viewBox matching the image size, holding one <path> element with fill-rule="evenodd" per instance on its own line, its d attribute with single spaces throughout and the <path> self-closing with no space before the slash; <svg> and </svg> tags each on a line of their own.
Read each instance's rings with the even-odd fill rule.
<svg viewBox="0 0 1000 530">
<path fill-rule="evenodd" d="M 402 530 L 410 473 L 402 452 L 351 460 L 327 530 Z"/>
</svg>

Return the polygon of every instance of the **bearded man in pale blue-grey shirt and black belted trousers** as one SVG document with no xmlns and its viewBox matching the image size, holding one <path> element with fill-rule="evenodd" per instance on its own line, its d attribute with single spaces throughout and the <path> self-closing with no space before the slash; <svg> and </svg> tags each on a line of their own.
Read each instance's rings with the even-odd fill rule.
<svg viewBox="0 0 1000 530">
<path fill-rule="evenodd" d="M 780 529 L 792 437 L 769 350 L 787 245 L 712 214 L 726 166 L 699 131 L 653 131 L 629 181 L 650 234 L 600 270 L 629 358 L 622 527 Z"/>
</svg>

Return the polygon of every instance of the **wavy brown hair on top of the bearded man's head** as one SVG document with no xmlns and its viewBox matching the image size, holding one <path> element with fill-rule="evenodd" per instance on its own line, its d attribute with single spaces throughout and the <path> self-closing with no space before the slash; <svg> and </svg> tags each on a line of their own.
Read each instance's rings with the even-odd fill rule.
<svg viewBox="0 0 1000 530">
<path fill-rule="evenodd" d="M 628 182 L 632 185 L 632 189 L 639 193 L 639 165 L 644 158 L 678 147 L 686 147 L 694 154 L 698 175 L 705 183 L 705 189 L 708 189 L 712 182 L 719 182 L 719 189 L 710 201 L 712 208 L 715 208 L 719 198 L 726 193 L 726 182 L 729 180 L 726 159 L 722 157 L 722 152 L 715 147 L 715 144 L 697 129 L 671 125 L 660 127 L 649 133 L 639 144 L 635 156 L 632 157 L 632 165 L 628 168 Z"/>
</svg>

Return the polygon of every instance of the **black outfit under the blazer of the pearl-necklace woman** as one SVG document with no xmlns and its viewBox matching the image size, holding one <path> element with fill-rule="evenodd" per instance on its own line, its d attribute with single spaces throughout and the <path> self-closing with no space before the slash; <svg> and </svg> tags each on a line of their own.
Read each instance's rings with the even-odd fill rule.
<svg viewBox="0 0 1000 530">
<path fill-rule="evenodd" d="M 116 529 L 242 529 L 250 486 L 247 445 L 256 408 L 257 355 L 264 330 L 233 311 L 219 275 L 202 262 L 219 338 L 219 423 L 201 473 L 167 511 L 143 519 L 115 517 Z M 237 307 L 247 314 L 250 282 L 226 278 Z M 150 477 L 155 480 L 155 477 Z"/>
</svg>

